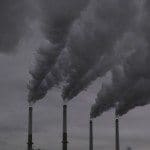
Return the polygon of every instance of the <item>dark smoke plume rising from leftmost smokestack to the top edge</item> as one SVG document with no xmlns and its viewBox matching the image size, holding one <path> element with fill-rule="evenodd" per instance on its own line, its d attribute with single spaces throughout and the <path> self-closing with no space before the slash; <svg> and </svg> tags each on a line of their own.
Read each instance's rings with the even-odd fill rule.
<svg viewBox="0 0 150 150">
<path fill-rule="evenodd" d="M 28 86 L 29 101 L 43 98 L 47 89 L 52 87 L 51 82 L 55 81 L 52 74 L 56 70 L 53 68 L 66 46 L 74 20 L 80 17 L 88 0 L 39 0 L 38 2 L 41 10 L 41 30 L 47 42 L 38 51 L 35 67 L 30 71 L 32 80 Z"/>
</svg>

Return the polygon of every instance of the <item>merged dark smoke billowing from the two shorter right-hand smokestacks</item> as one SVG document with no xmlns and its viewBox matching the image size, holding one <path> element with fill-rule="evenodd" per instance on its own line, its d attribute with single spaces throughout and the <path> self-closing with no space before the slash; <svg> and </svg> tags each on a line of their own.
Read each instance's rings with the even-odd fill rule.
<svg viewBox="0 0 150 150">
<path fill-rule="evenodd" d="M 144 1 L 143 1 L 144 2 Z M 137 24 L 132 32 L 126 33 L 118 43 L 118 56 L 122 59 L 122 70 L 112 71 L 112 83 L 99 92 L 92 106 L 91 116 L 97 117 L 119 102 L 117 113 L 123 115 L 136 106 L 149 103 L 150 95 L 150 52 L 149 52 L 149 9 L 148 1 L 142 4 Z M 144 5 L 145 4 L 145 5 Z M 146 23 L 145 23 L 146 22 Z M 118 67 L 117 67 L 118 68 Z M 115 71 L 114 71 L 115 70 Z"/>
</svg>

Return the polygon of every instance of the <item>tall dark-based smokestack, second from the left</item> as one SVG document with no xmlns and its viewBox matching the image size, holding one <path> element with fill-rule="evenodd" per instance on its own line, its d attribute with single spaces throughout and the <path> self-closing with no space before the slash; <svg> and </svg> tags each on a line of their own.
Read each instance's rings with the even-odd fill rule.
<svg viewBox="0 0 150 150">
<path fill-rule="evenodd" d="M 67 150 L 67 105 L 63 104 L 63 140 L 62 150 Z"/>
</svg>

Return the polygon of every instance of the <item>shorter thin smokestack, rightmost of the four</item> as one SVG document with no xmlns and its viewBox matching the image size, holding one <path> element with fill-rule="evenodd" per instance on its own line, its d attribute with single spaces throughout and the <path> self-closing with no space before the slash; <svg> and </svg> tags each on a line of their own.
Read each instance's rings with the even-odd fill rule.
<svg viewBox="0 0 150 150">
<path fill-rule="evenodd" d="M 117 110 L 117 108 L 116 108 Z M 116 150 L 120 149 L 119 144 L 119 115 L 117 114 L 117 111 L 115 110 L 115 126 L 116 126 Z"/>
</svg>

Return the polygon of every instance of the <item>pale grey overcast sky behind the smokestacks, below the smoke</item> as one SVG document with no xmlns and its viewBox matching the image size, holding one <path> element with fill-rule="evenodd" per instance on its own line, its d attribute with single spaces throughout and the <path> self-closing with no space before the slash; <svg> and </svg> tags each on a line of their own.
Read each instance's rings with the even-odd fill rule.
<svg viewBox="0 0 150 150">
<path fill-rule="evenodd" d="M 15 53 L 0 53 L 0 149 L 26 150 L 28 102 L 27 83 L 35 50 L 43 42 L 36 22 L 30 38 L 22 40 Z M 19 35 L 18 35 L 19 36 Z M 9 47 L 9 46 L 8 46 Z M 68 149 L 88 149 L 88 121 L 91 105 L 101 87 L 97 79 L 87 91 L 68 104 Z M 150 105 L 139 107 L 120 120 L 120 144 L 125 150 L 149 150 Z M 62 98 L 59 89 L 52 89 L 34 105 L 33 142 L 41 150 L 62 148 Z M 94 150 L 115 149 L 114 110 L 94 120 Z"/>
</svg>

